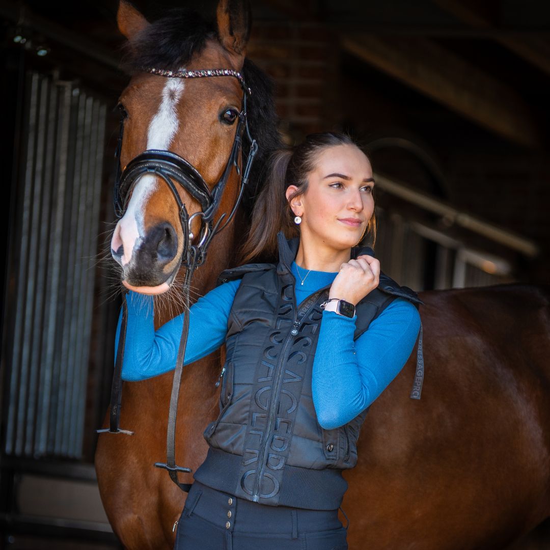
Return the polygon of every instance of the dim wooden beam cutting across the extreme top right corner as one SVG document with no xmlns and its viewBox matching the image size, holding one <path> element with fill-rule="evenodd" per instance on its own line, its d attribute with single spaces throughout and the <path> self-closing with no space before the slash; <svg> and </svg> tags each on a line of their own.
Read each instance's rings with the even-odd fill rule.
<svg viewBox="0 0 550 550">
<path fill-rule="evenodd" d="M 496 10 L 488 10 L 483 2 L 471 0 L 432 0 L 464 23 L 478 29 L 494 29 Z M 550 42 L 540 36 L 499 36 L 493 39 L 525 59 L 544 73 L 550 74 Z"/>
</svg>

